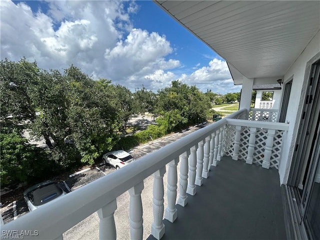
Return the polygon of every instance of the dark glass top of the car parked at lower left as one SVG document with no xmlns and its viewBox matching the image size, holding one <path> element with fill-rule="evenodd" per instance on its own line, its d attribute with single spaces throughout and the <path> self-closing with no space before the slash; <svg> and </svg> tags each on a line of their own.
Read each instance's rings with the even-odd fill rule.
<svg viewBox="0 0 320 240">
<path fill-rule="evenodd" d="M 33 205 L 42 205 L 62 194 L 62 189 L 55 183 L 42 186 L 28 194 Z"/>
</svg>

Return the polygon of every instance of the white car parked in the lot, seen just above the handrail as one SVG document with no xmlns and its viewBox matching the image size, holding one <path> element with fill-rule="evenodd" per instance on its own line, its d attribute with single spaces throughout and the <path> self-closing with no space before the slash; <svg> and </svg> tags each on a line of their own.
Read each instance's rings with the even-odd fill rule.
<svg viewBox="0 0 320 240">
<path fill-rule="evenodd" d="M 110 164 L 115 169 L 119 169 L 131 162 L 134 161 L 133 156 L 123 150 L 118 151 L 110 151 L 108 153 L 103 154 L 102 161 L 104 164 Z"/>
</svg>

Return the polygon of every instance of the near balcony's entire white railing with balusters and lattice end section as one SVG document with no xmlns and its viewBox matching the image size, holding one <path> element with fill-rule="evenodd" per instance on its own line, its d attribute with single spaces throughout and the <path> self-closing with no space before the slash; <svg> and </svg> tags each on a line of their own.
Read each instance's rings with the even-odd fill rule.
<svg viewBox="0 0 320 240">
<path fill-rule="evenodd" d="M 97 211 L 99 238 L 115 239 L 113 213 L 116 197 L 129 192 L 129 222 L 132 239 L 141 239 L 143 180 L 153 174 L 153 223 L 151 234 L 160 239 L 164 234 L 162 223 L 163 175 L 168 169 L 167 207 L 165 218 L 174 222 L 175 203 L 185 206 L 187 195 L 194 195 L 196 185 L 202 184 L 211 166 L 225 154 L 233 159 L 245 158 L 247 163 L 259 162 L 262 167 L 276 167 L 280 158 L 281 142 L 288 124 L 242 120 L 247 112 L 239 110 L 201 128 L 171 144 L 143 156 L 134 163 L 88 183 L 59 200 L 29 212 L 1 226 L 1 237 L 12 231 L 37 231 L 37 236 L 24 235 L 23 239 L 62 239 L 62 233 Z M 245 153 L 246 152 L 246 153 Z M 180 161 L 177 197 L 177 164 Z M 277 162 L 277 163 L 276 163 Z M 270 164 L 271 163 L 271 164 Z M 177 199 L 176 199 L 177 198 Z M 58 209 L 58 210 L 57 210 Z"/>
</svg>

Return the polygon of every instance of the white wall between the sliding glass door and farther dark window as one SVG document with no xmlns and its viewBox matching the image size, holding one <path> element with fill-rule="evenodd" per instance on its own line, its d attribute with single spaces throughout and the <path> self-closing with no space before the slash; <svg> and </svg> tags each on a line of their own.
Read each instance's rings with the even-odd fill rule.
<svg viewBox="0 0 320 240">
<path fill-rule="evenodd" d="M 293 80 L 285 118 L 285 122 L 289 122 L 289 129 L 282 145 L 282 157 L 279 164 L 281 184 L 287 183 L 310 67 L 318 59 L 320 59 L 319 32 L 312 38 L 284 75 L 283 85 L 292 78 Z"/>
</svg>

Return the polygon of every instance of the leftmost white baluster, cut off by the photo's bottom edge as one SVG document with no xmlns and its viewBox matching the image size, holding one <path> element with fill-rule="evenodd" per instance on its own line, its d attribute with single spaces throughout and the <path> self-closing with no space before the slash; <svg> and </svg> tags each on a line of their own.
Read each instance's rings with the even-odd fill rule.
<svg viewBox="0 0 320 240">
<path fill-rule="evenodd" d="M 116 200 L 109 202 L 96 212 L 99 221 L 99 239 L 116 239 L 116 230 L 113 213 L 116 210 Z"/>
</svg>

